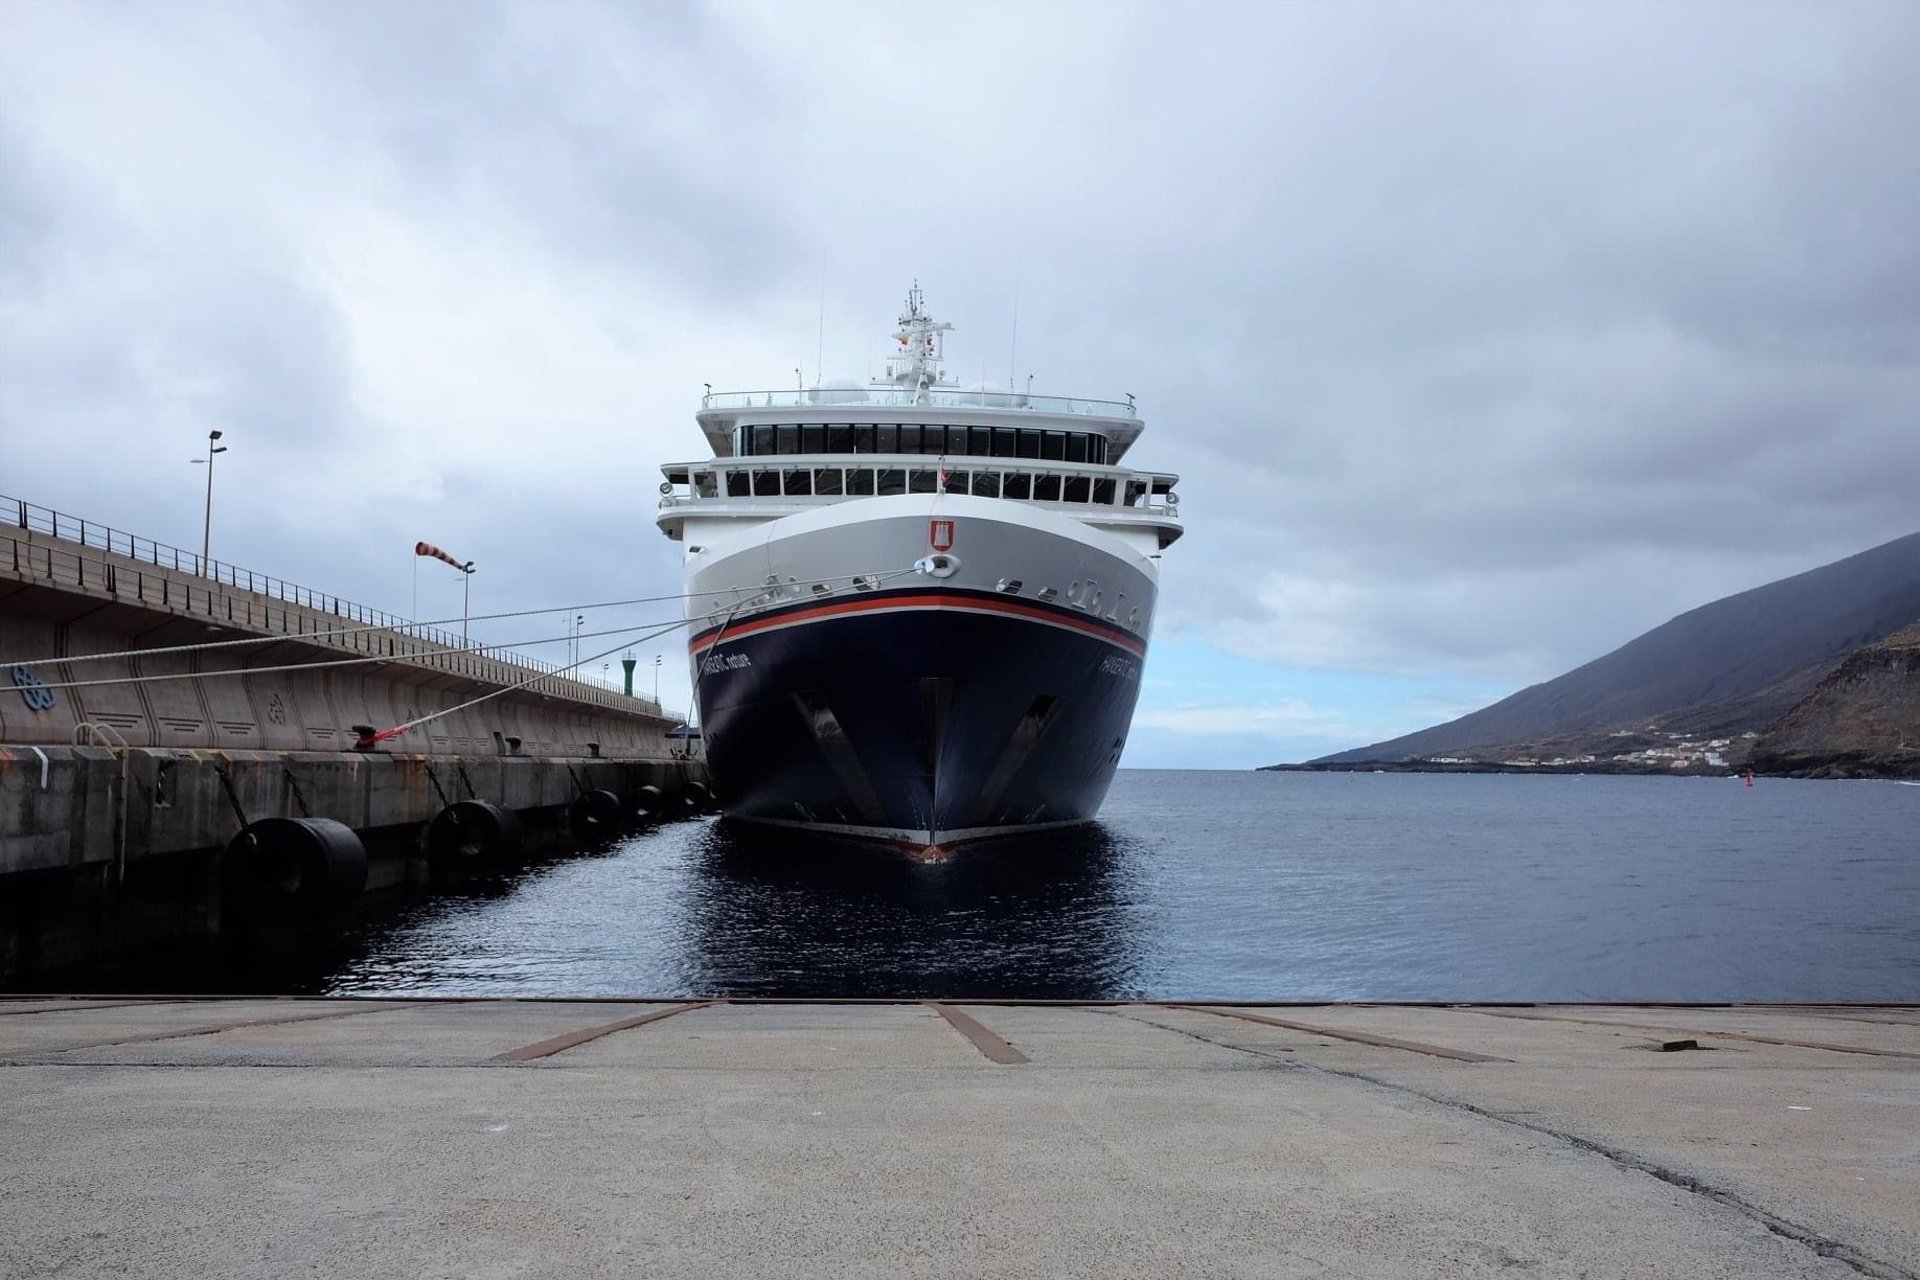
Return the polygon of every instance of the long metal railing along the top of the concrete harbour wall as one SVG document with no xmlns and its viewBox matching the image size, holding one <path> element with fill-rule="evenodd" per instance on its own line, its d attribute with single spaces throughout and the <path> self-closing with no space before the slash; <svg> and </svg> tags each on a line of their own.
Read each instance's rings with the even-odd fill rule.
<svg viewBox="0 0 1920 1280">
<path fill-rule="evenodd" d="M 238 595 L 246 591 L 252 597 L 265 597 L 267 601 L 278 601 L 280 604 L 294 604 L 309 610 L 311 614 L 328 614 L 330 618 L 340 618 L 344 624 L 386 628 L 396 633 L 396 639 L 417 643 L 397 649 L 390 647 L 394 656 L 428 662 L 430 666 L 440 666 L 453 674 L 480 676 L 484 674 L 482 666 L 486 662 L 499 662 L 513 668 L 524 668 L 524 672 L 549 676 L 555 681 L 566 681 L 564 689 L 541 687 L 536 689 L 536 693 L 563 693 L 564 697 L 586 702 L 605 702 L 609 706 L 628 706 L 632 702 L 639 702 L 655 714 L 660 710 L 651 699 L 628 697 L 614 689 L 609 679 L 595 679 L 584 672 L 568 672 L 559 662 L 534 658 L 503 645 L 480 645 L 478 641 L 461 637 L 459 631 L 420 626 L 411 618 L 401 618 L 399 614 L 344 601 L 338 595 L 301 587 L 286 581 L 284 578 L 259 574 L 236 564 L 227 564 L 225 560 L 202 558 L 198 551 L 182 551 L 180 547 L 115 530 L 98 520 L 69 516 L 67 512 L 54 510 L 52 507 L 40 507 L 17 497 L 0 495 L 0 522 L 12 524 L 29 533 L 44 533 L 54 539 L 77 543 L 81 549 L 106 553 L 104 557 L 84 557 L 77 551 L 56 549 L 54 545 L 44 543 L 35 547 L 8 537 L 4 539 L 6 545 L 0 545 L 0 553 L 6 555 L 6 564 L 21 576 L 33 576 L 50 583 L 75 585 L 83 589 L 104 587 L 113 595 L 132 595 L 138 603 L 154 603 L 163 608 L 182 608 L 186 612 L 225 620 L 252 631 L 282 631 L 294 637 L 311 637 L 315 633 L 317 624 L 311 618 L 288 614 L 284 608 L 275 614 L 275 610 L 265 608 L 265 601 L 252 601 Z M 113 564 L 108 557 L 119 557 L 121 560 L 131 560 L 132 564 Z M 207 585 L 182 589 L 179 581 L 169 580 L 163 574 L 154 574 L 152 581 L 148 581 L 148 578 L 138 572 L 140 566 L 148 564 L 157 570 L 171 570 L 171 574 L 177 576 L 200 578 Z M 376 643 L 392 645 L 392 641 L 380 641 L 371 633 L 348 633 L 344 637 L 332 637 L 328 643 L 367 651 L 371 651 Z"/>
</svg>

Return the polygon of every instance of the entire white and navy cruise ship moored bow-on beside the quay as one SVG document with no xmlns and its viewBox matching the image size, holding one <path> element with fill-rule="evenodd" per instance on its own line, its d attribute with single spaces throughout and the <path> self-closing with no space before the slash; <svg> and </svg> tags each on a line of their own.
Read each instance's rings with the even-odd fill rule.
<svg viewBox="0 0 1920 1280">
<path fill-rule="evenodd" d="M 1177 476 L 1125 403 L 960 388 L 920 286 L 885 380 L 712 391 L 662 468 L 730 818 L 939 858 L 1094 818 L 1127 745 Z"/>
</svg>

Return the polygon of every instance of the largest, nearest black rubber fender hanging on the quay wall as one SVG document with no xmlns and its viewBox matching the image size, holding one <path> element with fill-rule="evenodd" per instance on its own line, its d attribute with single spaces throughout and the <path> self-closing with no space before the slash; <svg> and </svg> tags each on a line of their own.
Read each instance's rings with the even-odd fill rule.
<svg viewBox="0 0 1920 1280">
<path fill-rule="evenodd" d="M 319 919 L 367 889 L 367 846 L 332 818 L 261 818 L 227 844 L 225 871 L 244 913 Z"/>
</svg>

